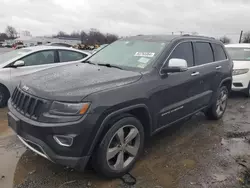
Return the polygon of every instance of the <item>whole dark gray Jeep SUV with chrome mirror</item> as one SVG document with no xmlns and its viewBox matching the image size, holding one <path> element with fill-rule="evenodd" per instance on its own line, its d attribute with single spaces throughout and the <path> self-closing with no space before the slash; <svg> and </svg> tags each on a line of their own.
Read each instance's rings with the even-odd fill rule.
<svg viewBox="0 0 250 188">
<path fill-rule="evenodd" d="M 202 111 L 220 119 L 233 63 L 196 36 L 135 36 L 87 61 L 29 76 L 8 102 L 9 126 L 39 155 L 106 177 L 131 170 L 146 138 Z"/>
</svg>

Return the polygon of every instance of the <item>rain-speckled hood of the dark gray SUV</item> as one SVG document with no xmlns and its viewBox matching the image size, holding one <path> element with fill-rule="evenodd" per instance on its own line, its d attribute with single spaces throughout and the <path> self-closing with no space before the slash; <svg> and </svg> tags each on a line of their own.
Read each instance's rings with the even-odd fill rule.
<svg viewBox="0 0 250 188">
<path fill-rule="evenodd" d="M 130 84 L 140 78 L 138 72 L 77 63 L 31 74 L 20 87 L 44 99 L 81 101 L 91 93 Z"/>
</svg>

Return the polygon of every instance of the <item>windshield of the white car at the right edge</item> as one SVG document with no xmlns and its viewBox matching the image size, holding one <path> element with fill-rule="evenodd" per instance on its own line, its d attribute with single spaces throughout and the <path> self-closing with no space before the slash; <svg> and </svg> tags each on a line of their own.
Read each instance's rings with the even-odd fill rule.
<svg viewBox="0 0 250 188">
<path fill-rule="evenodd" d="M 227 51 L 235 61 L 250 61 L 250 48 L 227 48 Z"/>
</svg>

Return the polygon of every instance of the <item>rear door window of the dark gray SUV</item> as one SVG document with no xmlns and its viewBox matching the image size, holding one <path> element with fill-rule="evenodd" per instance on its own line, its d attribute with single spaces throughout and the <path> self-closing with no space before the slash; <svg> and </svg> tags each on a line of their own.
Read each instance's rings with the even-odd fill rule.
<svg viewBox="0 0 250 188">
<path fill-rule="evenodd" d="M 196 42 L 196 65 L 203 65 L 214 61 L 213 51 L 210 43 L 208 42 Z"/>
</svg>

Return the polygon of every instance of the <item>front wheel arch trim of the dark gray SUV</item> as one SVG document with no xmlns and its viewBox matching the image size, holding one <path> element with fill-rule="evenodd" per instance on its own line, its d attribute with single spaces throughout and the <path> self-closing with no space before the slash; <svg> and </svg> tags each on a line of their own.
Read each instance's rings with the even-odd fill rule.
<svg viewBox="0 0 250 188">
<path fill-rule="evenodd" d="M 129 110 L 133 110 L 133 109 L 136 109 L 136 108 L 144 108 L 145 110 L 147 110 L 147 113 L 148 113 L 148 116 L 149 116 L 149 119 L 150 119 L 150 122 L 149 122 L 149 123 L 150 123 L 150 127 L 152 127 L 152 118 L 151 118 L 149 109 L 148 109 L 148 107 L 147 107 L 145 104 L 131 105 L 131 106 L 128 106 L 128 107 L 125 107 L 125 108 L 116 110 L 116 111 L 110 113 L 108 116 L 106 116 L 106 117 L 104 118 L 104 120 L 102 121 L 101 126 L 100 126 L 100 128 L 98 129 L 98 131 L 97 131 L 97 133 L 96 133 L 96 136 L 95 136 L 95 138 L 94 138 L 94 140 L 93 140 L 93 143 L 92 143 L 92 145 L 91 145 L 91 147 L 90 147 L 90 149 L 89 149 L 89 151 L 88 151 L 88 155 L 91 155 L 91 154 L 92 154 L 92 152 L 93 152 L 93 150 L 94 150 L 94 148 L 95 148 L 97 142 L 98 142 L 99 139 L 100 139 L 100 136 L 101 136 L 101 134 L 102 134 L 102 131 L 103 131 L 104 128 L 105 128 L 106 123 L 107 123 L 111 118 L 115 117 L 115 116 L 118 115 L 118 114 L 122 114 L 122 113 L 124 113 L 124 112 L 127 112 L 127 111 L 129 111 Z"/>
</svg>

